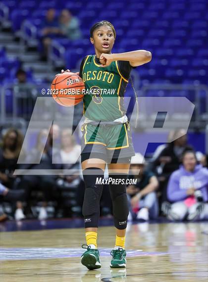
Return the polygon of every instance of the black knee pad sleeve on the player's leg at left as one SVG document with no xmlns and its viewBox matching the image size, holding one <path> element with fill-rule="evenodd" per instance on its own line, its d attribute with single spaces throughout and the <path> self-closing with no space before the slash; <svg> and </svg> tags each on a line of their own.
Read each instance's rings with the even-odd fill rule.
<svg viewBox="0 0 208 282">
<path fill-rule="evenodd" d="M 95 169 L 96 173 L 93 175 L 87 173 L 85 174 L 84 172 L 89 172 L 89 169 Z M 83 170 L 85 195 L 82 206 L 82 214 L 85 220 L 85 227 L 98 227 L 103 184 L 96 184 L 97 177 L 102 179 L 104 178 L 103 169 L 88 168 Z"/>
</svg>

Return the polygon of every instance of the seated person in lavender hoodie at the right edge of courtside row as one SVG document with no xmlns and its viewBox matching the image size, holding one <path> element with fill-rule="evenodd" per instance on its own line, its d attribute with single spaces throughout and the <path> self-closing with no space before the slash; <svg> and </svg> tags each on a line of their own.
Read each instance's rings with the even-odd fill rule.
<svg viewBox="0 0 208 282">
<path fill-rule="evenodd" d="M 208 169 L 197 164 L 194 151 L 185 151 L 182 165 L 175 170 L 167 186 L 162 210 L 170 220 L 208 219 Z"/>
</svg>

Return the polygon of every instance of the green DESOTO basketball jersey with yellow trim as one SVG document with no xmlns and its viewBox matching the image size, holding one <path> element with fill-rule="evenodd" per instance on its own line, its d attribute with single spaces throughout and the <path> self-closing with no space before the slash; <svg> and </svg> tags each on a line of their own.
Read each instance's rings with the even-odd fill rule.
<svg viewBox="0 0 208 282">
<path fill-rule="evenodd" d="M 120 61 L 101 67 L 97 60 L 96 55 L 89 55 L 82 62 L 80 76 L 86 88 L 83 114 L 90 120 L 113 121 L 126 113 L 124 92 L 129 77 L 124 78 L 121 74 Z"/>
</svg>

